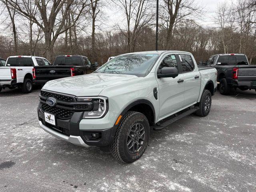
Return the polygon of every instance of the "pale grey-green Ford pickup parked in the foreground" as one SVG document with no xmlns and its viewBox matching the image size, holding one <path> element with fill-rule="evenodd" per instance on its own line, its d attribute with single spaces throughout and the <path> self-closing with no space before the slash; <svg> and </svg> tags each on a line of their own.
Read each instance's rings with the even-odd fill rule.
<svg viewBox="0 0 256 192">
<path fill-rule="evenodd" d="M 39 124 L 57 138 L 110 148 L 116 159 L 131 163 L 146 150 L 150 127 L 208 115 L 216 79 L 217 70 L 198 68 L 189 52 L 123 54 L 92 74 L 47 82 L 39 95 Z"/>
</svg>

